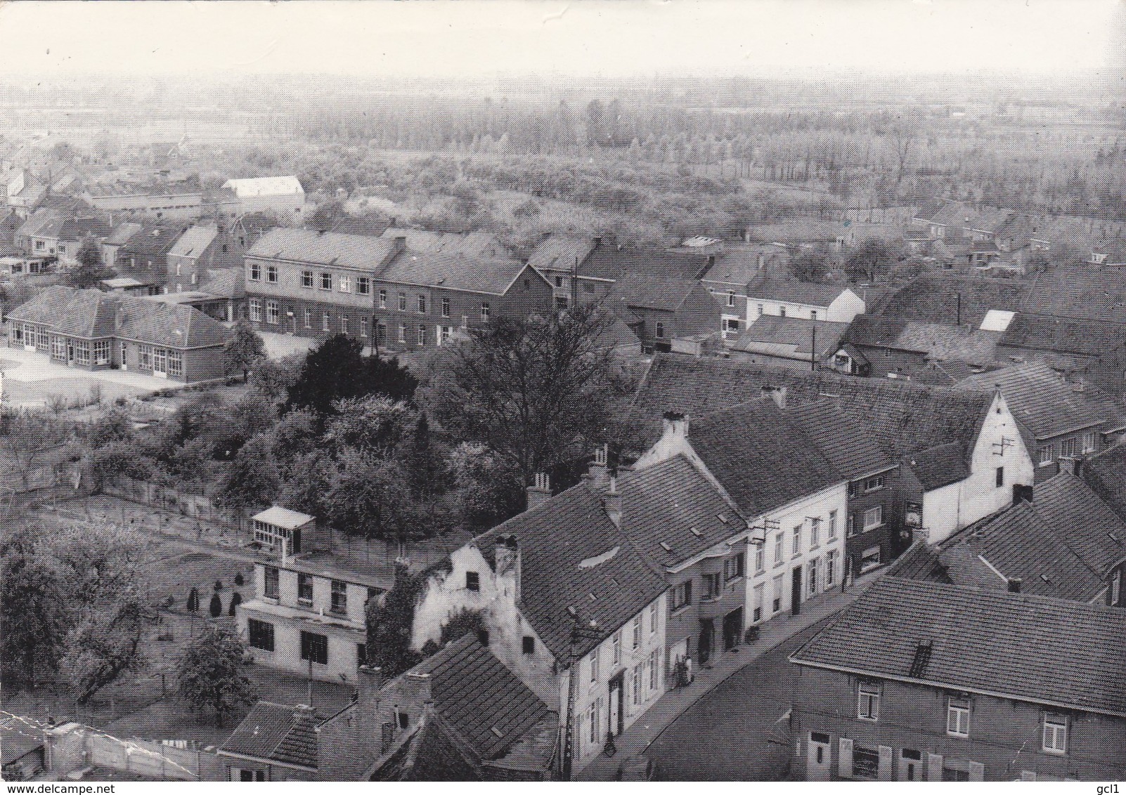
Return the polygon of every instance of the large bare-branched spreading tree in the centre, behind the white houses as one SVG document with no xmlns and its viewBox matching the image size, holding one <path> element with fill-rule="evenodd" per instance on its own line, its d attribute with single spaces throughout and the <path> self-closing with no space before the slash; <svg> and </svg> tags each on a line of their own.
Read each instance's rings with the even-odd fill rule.
<svg viewBox="0 0 1126 795">
<path fill-rule="evenodd" d="M 549 317 L 497 318 L 473 329 L 435 373 L 431 413 L 455 437 L 484 444 L 529 482 L 605 435 L 620 389 L 611 316 L 581 306 Z"/>
</svg>

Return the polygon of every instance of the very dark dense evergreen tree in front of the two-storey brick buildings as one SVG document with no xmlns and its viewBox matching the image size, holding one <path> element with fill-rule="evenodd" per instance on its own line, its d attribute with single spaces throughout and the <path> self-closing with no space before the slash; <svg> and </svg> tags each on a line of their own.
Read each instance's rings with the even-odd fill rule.
<svg viewBox="0 0 1126 795">
<path fill-rule="evenodd" d="M 359 340 L 337 334 L 310 351 L 289 387 L 286 407 L 310 408 L 324 417 L 336 414 L 337 400 L 372 394 L 412 404 L 418 379 L 397 360 L 365 356 L 363 350 Z"/>
</svg>

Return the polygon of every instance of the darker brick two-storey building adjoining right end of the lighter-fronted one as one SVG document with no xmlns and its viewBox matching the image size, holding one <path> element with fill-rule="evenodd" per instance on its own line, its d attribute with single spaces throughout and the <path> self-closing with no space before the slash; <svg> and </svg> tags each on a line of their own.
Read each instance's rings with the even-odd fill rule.
<svg viewBox="0 0 1126 795">
<path fill-rule="evenodd" d="M 392 351 L 443 345 L 493 318 L 554 311 L 548 281 L 512 259 L 406 247 L 375 275 L 373 289 L 376 342 Z"/>
</svg>

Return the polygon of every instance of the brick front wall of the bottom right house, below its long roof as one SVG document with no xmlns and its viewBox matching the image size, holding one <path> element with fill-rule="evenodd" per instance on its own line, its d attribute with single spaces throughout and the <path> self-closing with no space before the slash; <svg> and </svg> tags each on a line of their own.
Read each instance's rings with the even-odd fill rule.
<svg viewBox="0 0 1126 795">
<path fill-rule="evenodd" d="M 796 666 L 794 686 L 794 740 L 797 746 L 795 773 L 804 769 L 810 732 L 830 735 L 832 778 L 840 778 L 839 738 L 852 739 L 868 748 L 892 749 L 885 777 L 900 777 L 900 752 L 904 748 L 922 752 L 926 777 L 928 753 L 944 761 L 974 761 L 984 766 L 984 780 L 1021 778 L 1022 771 L 1037 778 L 1117 779 L 1126 775 L 1126 720 L 1072 713 L 1067 753 L 1042 750 L 1043 711 L 1036 704 L 1008 698 L 968 695 L 969 737 L 946 733 L 947 699 L 938 688 L 883 681 L 878 721 L 856 717 L 857 679 L 846 674 Z M 941 762 L 939 762 L 941 764 Z"/>
</svg>

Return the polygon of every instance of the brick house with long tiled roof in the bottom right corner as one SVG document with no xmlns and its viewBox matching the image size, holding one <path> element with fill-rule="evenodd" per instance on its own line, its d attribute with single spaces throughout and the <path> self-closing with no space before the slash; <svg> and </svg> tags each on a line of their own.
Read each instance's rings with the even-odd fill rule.
<svg viewBox="0 0 1126 795">
<path fill-rule="evenodd" d="M 805 780 L 1126 776 L 1126 611 L 884 577 L 789 660 Z"/>
</svg>

